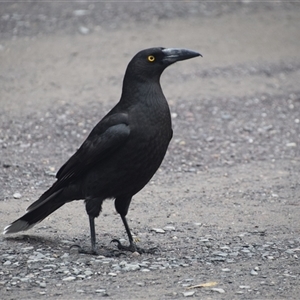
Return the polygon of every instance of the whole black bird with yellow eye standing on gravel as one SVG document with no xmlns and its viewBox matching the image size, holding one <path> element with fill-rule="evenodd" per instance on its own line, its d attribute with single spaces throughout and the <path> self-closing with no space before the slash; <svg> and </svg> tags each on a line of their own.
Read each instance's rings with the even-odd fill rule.
<svg viewBox="0 0 300 300">
<path fill-rule="evenodd" d="M 102 202 L 115 199 L 129 246 L 118 248 L 143 252 L 132 238 L 126 215 L 132 196 L 159 168 L 172 138 L 168 103 L 160 76 L 171 64 L 201 54 L 177 48 L 150 48 L 129 62 L 120 101 L 95 126 L 77 152 L 60 168 L 57 181 L 4 234 L 27 230 L 73 200 L 85 199 L 89 216 L 92 253 L 96 251 L 94 220 Z"/>
</svg>

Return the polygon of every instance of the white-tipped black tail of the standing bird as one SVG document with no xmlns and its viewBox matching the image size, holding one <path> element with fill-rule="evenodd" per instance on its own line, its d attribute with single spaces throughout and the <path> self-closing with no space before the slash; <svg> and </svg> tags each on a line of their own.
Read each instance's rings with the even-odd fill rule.
<svg viewBox="0 0 300 300">
<path fill-rule="evenodd" d="M 65 201 L 59 199 L 59 194 L 61 192 L 62 190 L 59 190 L 49 198 L 43 199 L 43 201 L 39 202 L 41 199 L 37 200 L 36 202 L 39 202 L 38 205 L 31 205 L 29 207 L 30 209 L 27 209 L 27 213 L 23 217 L 4 228 L 3 234 L 28 230 L 44 220 L 47 216 L 65 204 Z"/>
</svg>

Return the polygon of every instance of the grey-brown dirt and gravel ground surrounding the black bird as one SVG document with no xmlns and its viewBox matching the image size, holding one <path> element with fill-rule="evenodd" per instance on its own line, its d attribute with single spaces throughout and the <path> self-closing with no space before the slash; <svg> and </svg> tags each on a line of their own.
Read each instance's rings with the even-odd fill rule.
<svg viewBox="0 0 300 300">
<path fill-rule="evenodd" d="M 78 254 L 73 202 L 1 236 L 1 299 L 299 299 L 300 5 L 224 3 L 0 4 L 1 228 L 118 101 L 137 51 L 203 55 L 162 76 L 174 137 L 128 214 L 160 251 Z M 126 239 L 112 201 L 96 231 L 103 254 Z"/>
</svg>

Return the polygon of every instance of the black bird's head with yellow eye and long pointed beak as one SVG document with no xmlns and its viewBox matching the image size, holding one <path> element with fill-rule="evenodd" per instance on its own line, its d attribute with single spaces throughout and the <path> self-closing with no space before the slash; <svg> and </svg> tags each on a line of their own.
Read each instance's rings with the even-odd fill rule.
<svg viewBox="0 0 300 300">
<path fill-rule="evenodd" d="M 149 48 L 138 52 L 129 62 L 126 75 L 138 81 L 159 80 L 165 68 L 171 64 L 200 53 L 180 48 Z"/>
</svg>

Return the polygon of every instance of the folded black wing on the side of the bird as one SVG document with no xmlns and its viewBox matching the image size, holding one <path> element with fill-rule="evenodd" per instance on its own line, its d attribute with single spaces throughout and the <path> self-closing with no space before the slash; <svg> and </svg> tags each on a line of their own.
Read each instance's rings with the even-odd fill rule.
<svg viewBox="0 0 300 300">
<path fill-rule="evenodd" d="M 56 174 L 58 181 L 72 181 L 89 170 L 93 165 L 123 145 L 128 139 L 130 129 L 127 114 L 114 114 L 100 121 L 90 135 L 60 168 Z"/>
</svg>

